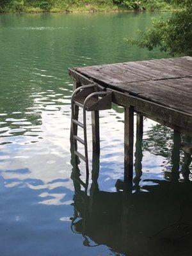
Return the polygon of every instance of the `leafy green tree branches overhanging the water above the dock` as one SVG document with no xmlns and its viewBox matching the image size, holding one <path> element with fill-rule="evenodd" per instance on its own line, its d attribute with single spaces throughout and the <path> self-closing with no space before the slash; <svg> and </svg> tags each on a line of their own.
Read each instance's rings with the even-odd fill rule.
<svg viewBox="0 0 192 256">
<path fill-rule="evenodd" d="M 153 27 L 146 31 L 139 31 L 139 38 L 125 39 L 129 44 L 136 44 L 152 51 L 159 47 L 161 51 L 168 51 L 172 55 L 192 56 L 192 12 L 190 1 L 175 3 L 184 8 L 177 11 L 164 21 L 152 20 Z"/>
</svg>

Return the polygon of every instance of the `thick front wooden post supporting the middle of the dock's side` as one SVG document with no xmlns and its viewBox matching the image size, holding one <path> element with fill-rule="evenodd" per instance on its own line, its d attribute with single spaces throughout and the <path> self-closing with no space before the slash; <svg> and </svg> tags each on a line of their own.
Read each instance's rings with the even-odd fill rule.
<svg viewBox="0 0 192 256">
<path fill-rule="evenodd" d="M 124 123 L 124 180 L 132 184 L 133 169 L 133 139 L 134 139 L 134 108 L 125 107 Z M 132 187 L 132 186 L 131 186 Z M 131 188 L 132 189 L 132 188 Z"/>
</svg>

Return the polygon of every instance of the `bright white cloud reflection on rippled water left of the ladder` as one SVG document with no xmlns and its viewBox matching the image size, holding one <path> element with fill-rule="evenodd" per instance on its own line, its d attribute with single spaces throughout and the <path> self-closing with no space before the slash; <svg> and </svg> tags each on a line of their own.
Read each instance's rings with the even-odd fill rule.
<svg viewBox="0 0 192 256">
<path fill-rule="evenodd" d="M 27 126 L 31 135 L 36 135 L 35 138 L 29 136 L 30 132 L 26 132 L 26 129 L 20 129 L 20 132 L 24 132 L 23 135 L 14 136 L 11 144 L 1 146 L 3 154 L 1 175 L 6 180 L 6 188 L 20 185 L 30 189 L 48 189 L 48 191 L 62 186 L 70 190 L 74 189 L 70 181 L 70 116 L 63 115 L 63 111 L 69 113 L 70 108 L 58 107 L 61 111 L 55 109 L 42 111 L 40 115 L 42 125 Z M 15 119 L 7 121 L 15 122 Z M 8 132 L 13 131 L 10 129 Z M 5 140 L 10 141 L 10 138 L 6 137 Z M 28 172 L 20 172 L 23 169 Z M 52 180 L 58 179 L 64 181 L 49 184 Z M 33 180 L 40 180 L 41 184 L 33 184 Z M 51 199 L 49 204 L 67 204 L 64 201 L 60 202 L 63 198 L 60 194 L 54 193 L 51 196 L 54 199 Z M 42 204 L 45 204 L 45 200 Z"/>
</svg>

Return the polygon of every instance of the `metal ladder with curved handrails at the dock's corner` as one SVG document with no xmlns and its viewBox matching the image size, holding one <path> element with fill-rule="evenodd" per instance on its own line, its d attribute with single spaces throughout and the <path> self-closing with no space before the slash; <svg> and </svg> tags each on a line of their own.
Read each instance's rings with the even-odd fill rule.
<svg viewBox="0 0 192 256">
<path fill-rule="evenodd" d="M 112 92 L 104 91 L 102 86 L 99 84 L 88 84 L 80 86 L 72 93 L 71 99 L 71 109 L 72 109 L 72 118 L 71 118 L 71 132 L 72 132 L 72 143 L 74 157 L 76 158 L 76 163 L 79 162 L 79 158 L 83 159 L 86 163 L 86 175 L 89 174 L 88 166 L 88 145 L 87 145 L 87 134 L 86 134 L 86 111 L 98 111 L 104 109 L 111 109 L 112 102 Z M 78 121 L 75 113 L 79 112 L 79 107 L 83 108 L 83 123 Z M 78 116 L 78 115 L 77 115 Z M 83 128 L 84 140 L 77 136 L 77 128 Z M 84 156 L 77 151 L 77 141 L 84 145 Z"/>
</svg>

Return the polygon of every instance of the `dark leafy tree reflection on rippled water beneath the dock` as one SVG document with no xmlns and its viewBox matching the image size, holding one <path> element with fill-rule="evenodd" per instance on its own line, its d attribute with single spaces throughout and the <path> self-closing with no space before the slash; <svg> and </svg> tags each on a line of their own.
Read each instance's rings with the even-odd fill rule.
<svg viewBox="0 0 192 256">
<path fill-rule="evenodd" d="M 143 140 L 143 150 L 166 158 L 166 162 L 164 162 L 165 179 L 178 180 L 180 177 L 180 179 L 186 180 L 186 178 L 191 178 L 191 155 L 180 150 L 181 141 L 190 142 L 191 138 L 180 135 L 177 131 L 173 132 L 172 129 L 161 124 L 153 125 L 150 130 L 145 132 L 145 136 L 147 138 Z M 182 176 L 179 176 L 179 172 Z"/>
</svg>

